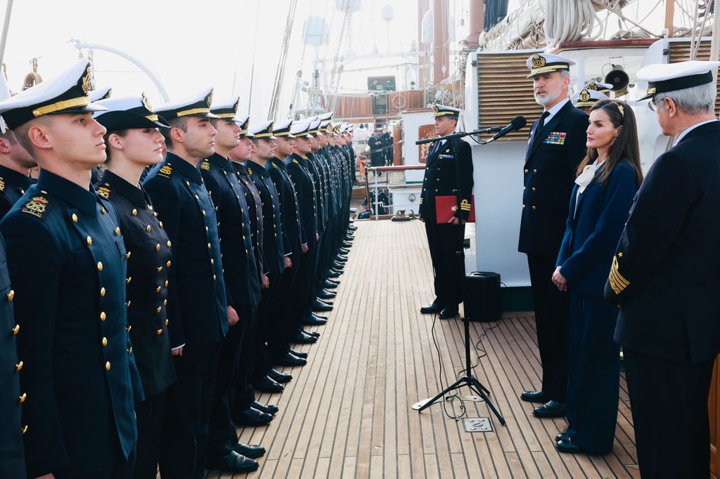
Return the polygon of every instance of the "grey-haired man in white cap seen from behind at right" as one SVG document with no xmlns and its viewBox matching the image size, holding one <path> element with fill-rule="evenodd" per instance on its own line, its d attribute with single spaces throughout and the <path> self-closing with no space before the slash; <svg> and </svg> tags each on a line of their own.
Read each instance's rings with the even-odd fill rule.
<svg viewBox="0 0 720 479">
<path fill-rule="evenodd" d="M 710 475 L 708 392 L 720 352 L 720 62 L 647 65 L 650 106 L 674 145 L 647 173 L 613 257 L 605 298 L 620 308 L 643 478 Z M 672 434 L 668 414 L 678 418 Z"/>
</svg>

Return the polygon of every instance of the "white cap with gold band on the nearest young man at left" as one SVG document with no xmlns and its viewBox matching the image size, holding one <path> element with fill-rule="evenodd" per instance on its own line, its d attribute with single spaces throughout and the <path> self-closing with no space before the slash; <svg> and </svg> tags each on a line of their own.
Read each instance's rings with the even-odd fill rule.
<svg viewBox="0 0 720 479">
<path fill-rule="evenodd" d="M 46 114 L 102 110 L 102 106 L 91 105 L 88 96 L 91 73 L 89 61 L 83 59 L 53 80 L 43 81 L 0 101 L 0 114 L 7 127 L 14 129 Z"/>
</svg>

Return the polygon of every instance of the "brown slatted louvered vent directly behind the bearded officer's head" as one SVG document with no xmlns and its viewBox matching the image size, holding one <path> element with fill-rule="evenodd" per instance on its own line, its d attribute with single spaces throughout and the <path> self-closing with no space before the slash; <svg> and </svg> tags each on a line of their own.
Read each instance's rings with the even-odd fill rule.
<svg viewBox="0 0 720 479">
<path fill-rule="evenodd" d="M 539 119 L 542 107 L 533 96 L 533 81 L 525 61 L 531 52 L 479 53 L 477 55 L 477 114 L 481 128 L 504 127 L 522 115 L 528 126 L 500 140 L 527 140 L 530 125 Z M 498 141 L 500 141 L 498 140 Z"/>
</svg>

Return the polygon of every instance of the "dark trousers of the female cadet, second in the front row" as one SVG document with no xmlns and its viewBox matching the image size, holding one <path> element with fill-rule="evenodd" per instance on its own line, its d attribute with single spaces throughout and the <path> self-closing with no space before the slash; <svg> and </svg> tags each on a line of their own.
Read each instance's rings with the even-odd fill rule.
<svg viewBox="0 0 720 479">
<path fill-rule="evenodd" d="M 158 475 L 158 455 L 163 431 L 165 391 L 146 397 L 135 404 L 138 418 L 138 455 L 135 460 L 134 479 L 155 479 Z"/>
</svg>

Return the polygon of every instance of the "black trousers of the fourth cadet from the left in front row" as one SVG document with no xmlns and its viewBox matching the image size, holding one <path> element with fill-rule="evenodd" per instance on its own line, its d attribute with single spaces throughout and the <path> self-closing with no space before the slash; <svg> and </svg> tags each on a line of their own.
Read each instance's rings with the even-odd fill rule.
<svg viewBox="0 0 720 479">
<path fill-rule="evenodd" d="M 224 457 L 235 444 L 230 442 L 230 430 L 234 432 L 235 424 L 231 417 L 232 399 L 235 396 L 235 387 L 240 377 L 240 357 L 248 324 L 253 314 L 253 306 L 237 306 L 240 321 L 230 326 L 228 336 L 220 348 L 220 358 L 217 361 L 217 378 L 215 390 L 212 393 L 212 406 L 210 408 L 210 430 L 207 442 L 207 457 Z"/>
</svg>

